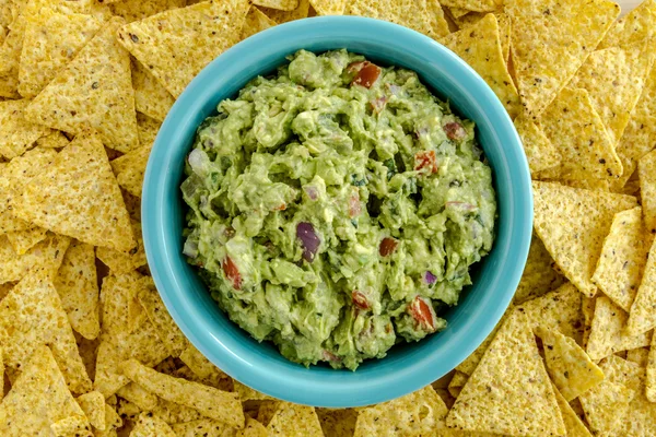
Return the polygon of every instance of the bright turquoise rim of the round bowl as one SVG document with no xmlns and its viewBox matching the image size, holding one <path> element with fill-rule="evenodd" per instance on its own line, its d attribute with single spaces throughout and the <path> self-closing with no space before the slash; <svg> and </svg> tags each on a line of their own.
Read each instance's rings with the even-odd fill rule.
<svg viewBox="0 0 656 437">
<path fill-rule="evenodd" d="M 507 160 L 507 154 L 511 154 L 511 161 L 514 162 L 514 165 L 517 165 L 517 168 L 506 170 L 508 175 L 513 175 L 515 182 L 519 182 L 518 187 L 512 188 L 513 193 L 511 193 L 511 197 L 516 198 L 512 203 L 514 214 L 518 214 L 519 217 L 517 223 L 513 223 L 514 227 L 512 228 L 513 235 L 517 234 L 515 235 L 516 240 L 513 245 L 507 245 L 508 252 L 505 255 L 503 262 L 503 282 L 506 284 L 504 285 L 506 290 L 503 293 L 496 292 L 496 299 L 490 302 L 491 308 L 485 310 L 485 318 L 478 320 L 476 323 L 477 330 L 464 333 L 464 340 L 466 339 L 467 342 L 455 351 L 453 356 L 447 357 L 447 361 L 453 365 L 446 366 L 449 369 L 442 370 L 437 375 L 434 369 L 440 367 L 441 356 L 435 352 L 427 352 L 421 359 L 408 363 L 406 367 L 395 369 L 394 373 L 376 374 L 375 377 L 366 378 L 366 380 L 359 378 L 359 380 L 353 381 L 344 377 L 326 381 L 324 380 L 325 374 L 313 371 L 312 368 L 305 369 L 301 366 L 298 366 L 297 371 L 288 370 L 286 367 L 284 369 L 279 367 L 270 369 L 268 366 L 261 365 L 262 358 L 258 358 L 256 351 L 249 351 L 245 346 L 236 344 L 234 339 L 227 339 L 226 335 L 222 336 L 220 332 L 212 332 L 209 329 L 209 321 L 199 316 L 197 306 L 195 307 L 189 302 L 191 299 L 185 298 L 185 292 L 180 291 L 181 285 L 178 281 L 178 273 L 172 265 L 172 258 L 175 255 L 171 253 L 172 245 L 169 243 L 175 238 L 167 236 L 165 221 L 163 220 L 163 215 L 166 215 L 166 212 L 164 212 L 166 201 L 169 199 L 165 194 L 169 191 L 165 189 L 166 184 L 160 179 L 168 177 L 169 172 L 166 172 L 167 168 L 179 165 L 179 162 L 173 163 L 171 161 L 171 151 L 167 150 L 167 145 L 171 142 L 175 143 L 175 139 L 183 139 L 183 134 L 178 132 L 180 130 L 178 129 L 180 119 L 186 117 L 188 120 L 189 116 L 186 113 L 190 108 L 191 110 L 200 108 L 198 98 L 204 94 L 204 85 L 216 80 L 215 78 L 223 73 L 222 66 L 231 62 L 244 62 L 242 61 L 244 52 L 258 51 L 262 54 L 268 47 L 274 45 L 279 38 L 294 34 L 312 34 L 318 27 L 326 29 L 331 28 L 331 26 L 333 33 L 351 32 L 354 37 L 376 34 L 376 39 L 379 40 L 380 45 L 402 43 L 412 52 L 431 50 L 436 59 L 448 62 L 449 68 L 455 70 L 454 74 L 462 74 L 473 83 L 476 94 L 480 96 L 487 107 L 485 114 L 490 118 L 488 125 L 493 126 L 493 131 L 502 130 L 500 138 L 505 140 L 504 144 L 507 146 L 504 157 Z M 295 50 L 290 49 L 290 54 Z M 213 104 L 215 106 L 216 98 L 213 99 Z M 493 170 L 496 173 L 496 169 L 493 168 Z M 179 188 L 179 184 L 176 184 L 176 186 Z M 171 206 L 168 208 L 171 209 Z M 460 58 L 433 39 L 397 24 L 367 17 L 325 16 L 297 20 L 258 33 L 223 52 L 194 79 L 175 102 L 157 133 L 144 176 L 141 214 L 143 245 L 151 274 L 160 291 L 162 300 L 176 324 L 206 357 L 242 383 L 274 398 L 315 406 L 345 408 L 388 401 L 433 382 L 468 357 L 492 332 L 509 305 L 528 256 L 532 233 L 532 194 L 528 164 L 512 120 L 492 90 Z M 508 240 L 512 239 L 508 237 Z M 497 241 L 495 241 L 496 244 Z M 508 259 L 513 259 L 513 261 L 508 261 Z M 514 263 L 515 267 L 511 268 L 511 263 Z M 497 283 L 500 281 L 501 279 Z M 497 288 L 500 286 L 496 285 Z M 254 358 L 259 363 L 254 364 L 251 361 Z M 333 371 L 339 373 L 340 370 Z"/>
</svg>

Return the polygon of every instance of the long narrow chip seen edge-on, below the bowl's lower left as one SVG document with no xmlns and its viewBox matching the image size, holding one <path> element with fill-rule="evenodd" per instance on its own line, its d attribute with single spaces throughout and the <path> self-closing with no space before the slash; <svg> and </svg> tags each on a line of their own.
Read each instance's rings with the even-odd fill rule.
<svg viewBox="0 0 656 437">
<path fill-rule="evenodd" d="M 136 359 L 124 362 L 120 368 L 129 379 L 162 399 L 196 409 L 226 425 L 244 424 L 244 412 L 236 393 L 160 374 Z"/>
</svg>

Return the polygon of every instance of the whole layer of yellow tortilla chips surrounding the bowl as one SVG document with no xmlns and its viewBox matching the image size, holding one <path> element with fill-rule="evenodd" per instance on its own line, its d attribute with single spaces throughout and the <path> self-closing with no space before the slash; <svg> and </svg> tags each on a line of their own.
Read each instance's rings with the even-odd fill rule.
<svg viewBox="0 0 656 437">
<path fill-rule="evenodd" d="M 656 435 L 656 0 L 0 0 L 1 436 Z M 362 409 L 212 365 L 166 311 L 145 164 L 192 78 L 243 38 L 353 14 L 459 55 L 514 120 L 535 235 L 456 370 Z"/>
</svg>

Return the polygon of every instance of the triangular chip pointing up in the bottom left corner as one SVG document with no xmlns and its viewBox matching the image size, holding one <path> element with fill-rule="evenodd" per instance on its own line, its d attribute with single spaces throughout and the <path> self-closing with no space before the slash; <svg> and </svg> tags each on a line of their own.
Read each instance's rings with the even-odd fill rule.
<svg viewBox="0 0 656 437">
<path fill-rule="evenodd" d="M 84 416 L 84 412 L 67 388 L 50 349 L 39 345 L 0 404 L 0 434 L 47 436 L 51 423 L 70 416 Z"/>
</svg>

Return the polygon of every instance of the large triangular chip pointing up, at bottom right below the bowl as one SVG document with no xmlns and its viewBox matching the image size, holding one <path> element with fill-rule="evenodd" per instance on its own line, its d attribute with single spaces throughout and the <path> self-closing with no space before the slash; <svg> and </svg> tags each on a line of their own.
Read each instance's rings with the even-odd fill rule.
<svg viewBox="0 0 656 437">
<path fill-rule="evenodd" d="M 514 312 L 499 330 L 446 424 L 509 435 L 565 434 L 553 386 L 525 315 Z"/>
</svg>

